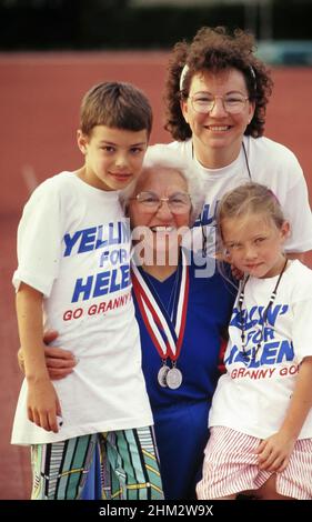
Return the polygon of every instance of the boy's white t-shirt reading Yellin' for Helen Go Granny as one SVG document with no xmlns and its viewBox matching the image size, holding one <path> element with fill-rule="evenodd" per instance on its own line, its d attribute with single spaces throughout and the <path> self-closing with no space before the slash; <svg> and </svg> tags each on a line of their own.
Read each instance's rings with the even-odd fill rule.
<svg viewBox="0 0 312 522">
<path fill-rule="evenodd" d="M 130 228 L 119 193 L 72 172 L 44 181 L 24 207 L 18 232 L 21 281 L 43 293 L 44 329 L 53 345 L 73 352 L 73 372 L 53 381 L 63 425 L 48 432 L 27 418 L 22 384 L 12 443 L 57 442 L 77 435 L 152 424 L 130 279 Z"/>
</svg>

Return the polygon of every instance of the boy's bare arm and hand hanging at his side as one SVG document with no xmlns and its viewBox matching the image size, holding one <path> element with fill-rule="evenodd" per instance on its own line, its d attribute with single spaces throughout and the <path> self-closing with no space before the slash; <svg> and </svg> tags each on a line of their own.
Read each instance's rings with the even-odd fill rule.
<svg viewBox="0 0 312 522">
<path fill-rule="evenodd" d="M 21 283 L 17 293 L 17 314 L 24 351 L 28 418 L 44 430 L 57 433 L 57 414 L 61 414 L 61 409 L 44 360 L 42 293 Z"/>
</svg>

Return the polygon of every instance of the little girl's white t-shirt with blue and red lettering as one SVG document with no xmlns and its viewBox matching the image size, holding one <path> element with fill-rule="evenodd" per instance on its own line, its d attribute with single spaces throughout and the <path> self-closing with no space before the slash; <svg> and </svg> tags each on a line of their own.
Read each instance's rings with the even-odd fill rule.
<svg viewBox="0 0 312 522">
<path fill-rule="evenodd" d="M 245 284 L 242 310 L 246 351 L 256 350 L 262 338 L 263 310 L 278 278 L 251 277 Z M 263 329 L 261 348 L 252 362 L 242 355 L 238 299 L 224 354 L 227 373 L 219 379 L 209 425 L 223 425 L 265 439 L 281 428 L 299 364 L 305 357 L 312 357 L 312 270 L 296 260 L 283 273 Z M 312 409 L 299 435 L 299 439 L 306 438 L 312 438 Z"/>
</svg>

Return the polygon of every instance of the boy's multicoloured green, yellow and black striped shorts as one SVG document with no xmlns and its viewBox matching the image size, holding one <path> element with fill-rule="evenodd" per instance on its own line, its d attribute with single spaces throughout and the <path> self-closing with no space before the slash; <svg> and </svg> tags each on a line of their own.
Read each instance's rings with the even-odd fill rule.
<svg viewBox="0 0 312 522">
<path fill-rule="evenodd" d="M 101 461 L 99 481 L 102 499 L 163 499 L 152 426 L 92 433 L 32 445 L 31 499 L 80 499 L 97 445 Z"/>
</svg>

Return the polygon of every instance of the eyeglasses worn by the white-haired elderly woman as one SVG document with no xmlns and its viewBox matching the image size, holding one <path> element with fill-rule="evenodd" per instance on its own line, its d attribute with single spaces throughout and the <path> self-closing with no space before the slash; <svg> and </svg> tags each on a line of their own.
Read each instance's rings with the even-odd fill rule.
<svg viewBox="0 0 312 522">
<path fill-rule="evenodd" d="M 130 199 L 138 201 L 142 205 L 142 210 L 148 213 L 158 212 L 163 202 L 168 204 L 172 214 L 183 214 L 189 212 L 192 207 L 190 194 L 185 192 L 175 192 L 169 198 L 160 198 L 154 192 L 140 192 Z"/>
</svg>

